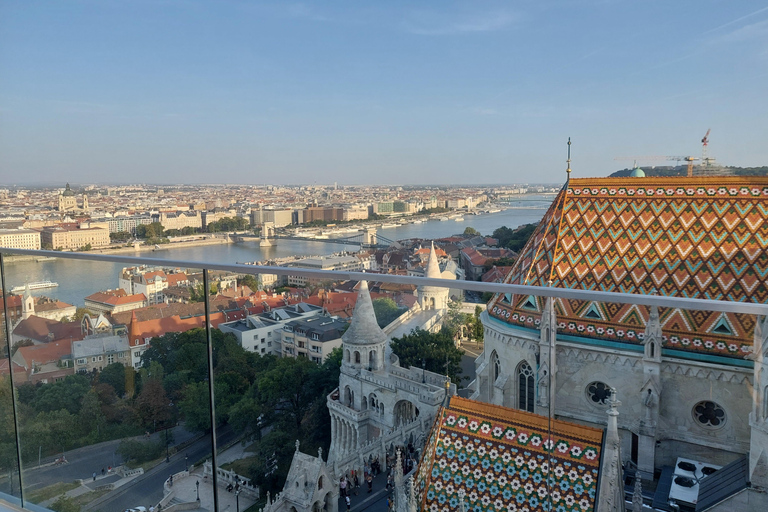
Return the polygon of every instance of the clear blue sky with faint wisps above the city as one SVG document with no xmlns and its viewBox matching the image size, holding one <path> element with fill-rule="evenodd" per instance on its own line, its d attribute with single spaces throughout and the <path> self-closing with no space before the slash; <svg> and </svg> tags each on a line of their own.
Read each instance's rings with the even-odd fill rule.
<svg viewBox="0 0 768 512">
<path fill-rule="evenodd" d="M 0 0 L 0 186 L 762 166 L 767 83 L 766 1 Z"/>
</svg>

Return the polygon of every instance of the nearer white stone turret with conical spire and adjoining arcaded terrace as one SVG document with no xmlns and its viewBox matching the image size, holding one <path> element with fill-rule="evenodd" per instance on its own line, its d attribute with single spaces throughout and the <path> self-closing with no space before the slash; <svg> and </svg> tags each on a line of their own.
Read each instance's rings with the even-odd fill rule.
<svg viewBox="0 0 768 512">
<path fill-rule="evenodd" d="M 361 281 L 349 329 L 342 336 L 344 356 L 339 387 L 328 395 L 331 448 L 337 471 L 360 469 L 396 446 L 418 445 L 437 409 L 455 386 L 444 375 L 421 368 L 402 368 L 389 338 L 376 322 L 368 291 Z"/>
</svg>

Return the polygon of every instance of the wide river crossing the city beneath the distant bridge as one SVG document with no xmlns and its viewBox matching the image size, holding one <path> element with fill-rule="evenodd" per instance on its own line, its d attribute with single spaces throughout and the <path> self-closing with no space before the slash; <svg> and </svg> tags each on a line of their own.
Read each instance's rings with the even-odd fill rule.
<svg viewBox="0 0 768 512">
<path fill-rule="evenodd" d="M 538 196 L 541 197 L 541 196 Z M 529 196 L 530 198 L 530 196 Z M 522 224 L 538 222 L 551 198 L 542 198 L 541 203 L 527 203 L 523 208 L 510 208 L 496 213 L 467 215 L 463 221 L 429 220 L 421 224 L 406 224 L 379 229 L 378 233 L 390 240 L 406 238 L 443 238 L 462 233 L 466 227 L 473 227 L 483 235 L 490 235 L 498 227 L 515 228 Z M 326 255 L 354 249 L 354 246 L 327 242 L 280 240 L 274 247 L 261 248 L 257 242 L 238 244 L 182 247 L 155 252 L 136 253 L 136 256 L 157 259 L 210 263 L 238 263 L 264 261 L 293 255 Z M 132 256 L 131 253 L 124 253 Z M 26 282 L 50 280 L 59 283 L 57 288 L 37 290 L 34 295 L 45 295 L 68 304 L 83 305 L 83 298 L 99 290 L 117 288 L 120 263 L 57 259 L 52 261 L 18 261 L 5 265 L 6 282 L 9 288 Z"/>
</svg>

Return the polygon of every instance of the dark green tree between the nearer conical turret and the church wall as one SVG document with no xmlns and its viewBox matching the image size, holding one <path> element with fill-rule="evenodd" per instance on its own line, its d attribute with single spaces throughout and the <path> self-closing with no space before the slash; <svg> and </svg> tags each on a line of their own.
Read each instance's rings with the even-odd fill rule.
<svg viewBox="0 0 768 512">
<path fill-rule="evenodd" d="M 443 328 L 437 333 L 415 329 L 401 338 L 394 338 L 391 346 L 392 352 L 400 358 L 401 366 L 425 368 L 447 375 L 457 385 L 461 383 L 464 351 L 456 348 L 449 329 Z"/>
</svg>

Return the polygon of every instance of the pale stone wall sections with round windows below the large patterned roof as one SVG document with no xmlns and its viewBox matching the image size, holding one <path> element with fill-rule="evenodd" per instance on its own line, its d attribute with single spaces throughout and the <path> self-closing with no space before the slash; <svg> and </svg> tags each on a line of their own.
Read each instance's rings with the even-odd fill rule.
<svg viewBox="0 0 768 512">
<path fill-rule="evenodd" d="M 534 372 L 538 334 L 507 327 L 484 318 L 485 351 L 476 362 L 477 379 L 473 398 L 508 407 L 517 407 L 515 370 L 526 360 Z M 506 373 L 493 382 L 493 354 Z M 556 414 L 593 426 L 604 426 L 607 406 L 591 401 L 587 386 L 603 382 L 617 390 L 619 427 L 622 429 L 625 460 L 631 456 L 632 434 L 640 434 L 641 422 L 648 420 L 643 402 L 644 375 L 642 351 L 615 350 L 573 342 L 557 343 Z M 660 364 L 661 396 L 656 440 L 655 466 L 673 463 L 678 455 L 725 464 L 749 451 L 749 413 L 752 408 L 752 370 L 689 360 L 663 358 Z M 504 378 L 505 377 L 505 378 Z M 537 399 L 541 392 L 537 381 Z M 502 384 L 502 385 L 500 385 Z M 704 426 L 693 414 L 701 401 L 713 401 L 726 413 L 718 427 Z M 538 402 L 538 400 L 537 400 Z M 538 414 L 548 414 L 539 410 Z M 693 457 L 693 455 L 697 457 Z"/>
</svg>

